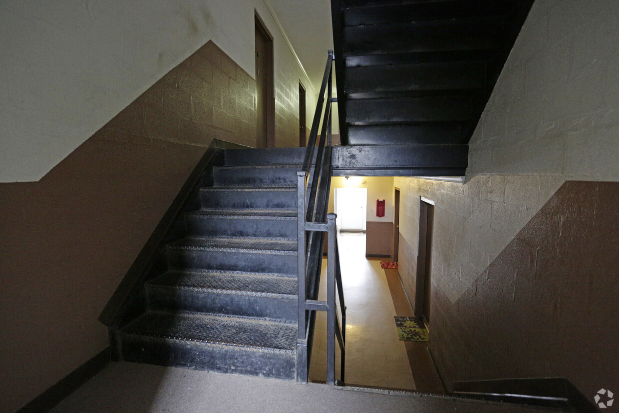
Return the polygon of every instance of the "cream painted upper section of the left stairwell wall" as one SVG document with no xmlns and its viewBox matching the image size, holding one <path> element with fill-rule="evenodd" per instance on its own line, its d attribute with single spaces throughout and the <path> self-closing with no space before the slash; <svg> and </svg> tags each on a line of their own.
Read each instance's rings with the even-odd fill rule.
<svg viewBox="0 0 619 413">
<path fill-rule="evenodd" d="M 0 181 L 39 180 L 208 40 L 253 75 L 254 10 L 274 36 L 276 84 L 307 86 L 264 1 L 2 0 Z"/>
</svg>

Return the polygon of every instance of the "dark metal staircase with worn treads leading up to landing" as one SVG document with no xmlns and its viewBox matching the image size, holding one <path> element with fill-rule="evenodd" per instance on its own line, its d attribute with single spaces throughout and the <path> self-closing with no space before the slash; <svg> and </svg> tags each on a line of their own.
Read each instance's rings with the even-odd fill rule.
<svg viewBox="0 0 619 413">
<path fill-rule="evenodd" d="M 305 149 L 225 150 L 110 336 L 117 359 L 294 379 L 297 171 Z M 155 266 L 156 267 L 156 266 Z M 152 274 L 155 272 L 155 274 Z M 158 272 L 158 274 L 157 274 Z"/>
</svg>

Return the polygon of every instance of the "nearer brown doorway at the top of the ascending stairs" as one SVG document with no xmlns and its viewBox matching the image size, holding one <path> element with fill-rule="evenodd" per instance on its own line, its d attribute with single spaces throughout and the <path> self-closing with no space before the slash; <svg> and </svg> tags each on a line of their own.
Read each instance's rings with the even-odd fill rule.
<svg viewBox="0 0 619 413">
<path fill-rule="evenodd" d="M 256 147 L 275 147 L 273 37 L 258 14 L 256 32 Z"/>
</svg>

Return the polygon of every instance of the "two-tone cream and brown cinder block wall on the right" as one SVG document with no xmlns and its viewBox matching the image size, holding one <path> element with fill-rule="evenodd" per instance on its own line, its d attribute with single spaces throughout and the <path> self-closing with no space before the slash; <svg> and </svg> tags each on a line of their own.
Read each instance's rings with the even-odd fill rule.
<svg viewBox="0 0 619 413">
<path fill-rule="evenodd" d="M 394 181 L 412 300 L 419 196 L 436 202 L 430 349 L 448 389 L 566 376 L 592 399 L 619 386 L 619 329 L 599 321 L 619 310 L 619 265 L 605 258 L 619 238 L 618 14 L 535 1 L 470 142 L 466 183 Z"/>
</svg>

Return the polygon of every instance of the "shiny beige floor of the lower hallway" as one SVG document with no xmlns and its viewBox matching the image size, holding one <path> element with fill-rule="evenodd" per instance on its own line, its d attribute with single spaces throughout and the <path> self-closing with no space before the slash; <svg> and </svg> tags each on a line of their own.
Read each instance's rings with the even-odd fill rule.
<svg viewBox="0 0 619 413">
<path fill-rule="evenodd" d="M 345 382 L 414 390 L 415 381 L 404 342 L 397 337 L 396 309 L 380 261 L 365 258 L 365 235 L 340 235 L 339 246 L 347 306 Z M 322 274 L 320 300 L 326 299 L 326 259 Z M 318 311 L 309 380 L 326 380 L 326 348 L 326 313 Z M 339 347 L 336 355 L 339 367 Z"/>
</svg>

